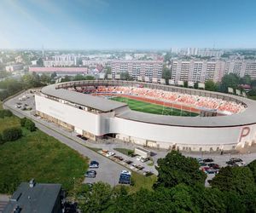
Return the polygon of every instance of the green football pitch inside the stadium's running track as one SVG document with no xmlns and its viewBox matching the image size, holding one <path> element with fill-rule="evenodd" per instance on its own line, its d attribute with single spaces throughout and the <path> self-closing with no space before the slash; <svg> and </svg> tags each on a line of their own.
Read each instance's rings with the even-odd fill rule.
<svg viewBox="0 0 256 213">
<path fill-rule="evenodd" d="M 179 109 L 175 109 L 172 107 L 165 107 L 162 105 L 147 103 L 144 101 L 137 101 L 134 99 L 126 98 L 126 97 L 111 97 L 109 98 L 113 101 L 125 102 L 131 108 L 131 110 L 139 111 L 139 112 L 148 112 L 152 114 L 160 114 L 160 115 L 175 115 L 175 116 L 198 116 L 195 112 L 181 111 Z"/>
</svg>

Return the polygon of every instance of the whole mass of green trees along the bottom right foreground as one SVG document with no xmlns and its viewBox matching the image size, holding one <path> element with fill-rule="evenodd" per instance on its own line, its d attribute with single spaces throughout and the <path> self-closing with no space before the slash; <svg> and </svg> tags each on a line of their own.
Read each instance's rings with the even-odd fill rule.
<svg viewBox="0 0 256 213">
<path fill-rule="evenodd" d="M 82 212 L 255 212 L 256 160 L 245 167 L 225 167 L 205 187 L 206 174 L 195 158 L 177 151 L 158 160 L 154 189 L 129 193 L 126 187 L 98 182 L 77 191 Z M 254 175 L 253 175 L 254 174 Z"/>
</svg>

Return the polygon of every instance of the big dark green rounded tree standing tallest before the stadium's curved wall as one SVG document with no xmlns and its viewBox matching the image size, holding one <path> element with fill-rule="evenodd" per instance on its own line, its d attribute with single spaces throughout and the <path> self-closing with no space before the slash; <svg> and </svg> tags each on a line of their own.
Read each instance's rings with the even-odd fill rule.
<svg viewBox="0 0 256 213">
<path fill-rule="evenodd" d="M 207 175 L 199 170 L 200 165 L 195 158 L 172 150 L 166 158 L 159 158 L 157 163 L 159 175 L 154 187 L 175 187 L 179 183 L 188 186 L 205 184 Z"/>
</svg>

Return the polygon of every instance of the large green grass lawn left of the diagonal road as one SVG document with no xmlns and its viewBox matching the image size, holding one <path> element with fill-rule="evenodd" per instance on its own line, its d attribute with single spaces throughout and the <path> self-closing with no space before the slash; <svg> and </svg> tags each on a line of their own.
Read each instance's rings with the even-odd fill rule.
<svg viewBox="0 0 256 213">
<path fill-rule="evenodd" d="M 0 118 L 0 132 L 20 126 L 19 118 Z M 87 159 L 54 137 L 37 130 L 22 129 L 23 137 L 0 145 L 0 193 L 13 193 L 21 181 L 61 183 L 73 189 L 74 177 L 81 182 Z"/>
</svg>

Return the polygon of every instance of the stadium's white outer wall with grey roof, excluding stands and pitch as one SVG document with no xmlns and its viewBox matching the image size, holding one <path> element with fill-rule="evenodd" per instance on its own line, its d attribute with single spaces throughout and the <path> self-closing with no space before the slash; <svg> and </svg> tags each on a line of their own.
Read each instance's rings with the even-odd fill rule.
<svg viewBox="0 0 256 213">
<path fill-rule="evenodd" d="M 68 89 L 102 85 L 137 87 L 138 84 L 234 101 L 246 108 L 237 114 L 217 117 L 156 115 L 132 111 L 125 103 Z M 100 80 L 52 84 L 41 89 L 35 101 L 40 117 L 95 141 L 111 135 L 147 147 L 202 152 L 235 150 L 251 146 L 256 139 L 256 102 L 235 95 L 154 83 Z"/>
</svg>

